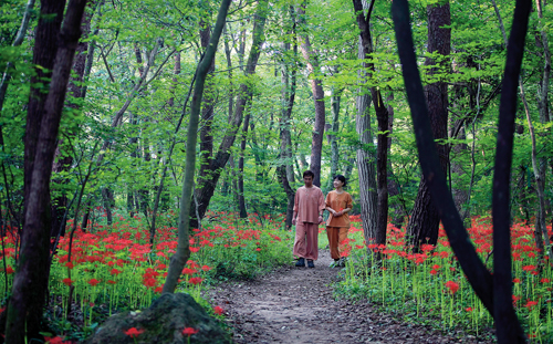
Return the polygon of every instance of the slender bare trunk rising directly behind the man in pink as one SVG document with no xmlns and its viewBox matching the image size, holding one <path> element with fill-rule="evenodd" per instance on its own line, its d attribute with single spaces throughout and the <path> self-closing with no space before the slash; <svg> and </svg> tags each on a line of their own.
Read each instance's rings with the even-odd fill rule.
<svg viewBox="0 0 553 344">
<path fill-rule="evenodd" d="M 304 0 L 298 9 L 300 25 L 305 25 L 306 6 L 307 0 Z M 300 38 L 302 40 L 300 49 L 302 51 L 303 59 L 305 59 L 306 61 L 307 71 L 311 75 L 311 91 L 313 92 L 313 101 L 315 102 L 315 124 L 313 127 L 313 138 L 311 143 L 310 169 L 315 175 L 315 178 L 313 178 L 313 184 L 317 187 L 321 187 L 321 156 L 323 153 L 325 122 L 323 81 L 320 79 L 320 76 L 317 76 L 317 74 L 320 73 L 319 60 L 316 58 L 316 53 L 311 46 L 307 32 L 304 31 L 302 34 L 300 34 Z"/>
</svg>

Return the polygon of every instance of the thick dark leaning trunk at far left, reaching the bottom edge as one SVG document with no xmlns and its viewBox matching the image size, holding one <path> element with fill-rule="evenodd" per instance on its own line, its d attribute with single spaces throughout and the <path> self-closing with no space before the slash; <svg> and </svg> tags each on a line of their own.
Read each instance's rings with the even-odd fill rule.
<svg viewBox="0 0 553 344">
<path fill-rule="evenodd" d="M 50 7 L 52 6 L 50 1 L 42 1 L 44 10 L 58 9 L 59 2 L 63 1 L 52 2 L 54 2 L 54 7 Z M 64 8 L 63 4 L 61 10 Z M 50 272 L 50 177 L 52 175 L 52 161 L 62 107 L 65 101 L 73 58 L 81 35 L 80 27 L 85 6 L 86 0 L 72 0 L 69 3 L 62 30 L 54 30 L 48 24 L 48 30 L 44 28 L 44 31 L 48 32 L 44 37 L 46 42 L 52 43 L 52 38 L 49 35 L 55 34 L 58 44 L 39 45 L 34 50 L 35 56 L 44 53 L 41 49 L 55 50 L 55 60 L 50 88 L 43 103 L 43 111 L 33 114 L 42 118 L 40 118 L 39 123 L 32 124 L 32 126 L 38 127 L 35 132 L 38 135 L 35 140 L 32 142 L 35 145 L 35 155 L 32 164 L 25 161 L 25 167 L 32 166 L 31 171 L 25 170 L 25 175 L 29 177 L 28 181 L 31 184 L 25 186 L 28 192 L 25 192 L 27 207 L 23 236 L 17 274 L 13 280 L 12 298 L 8 305 L 7 343 L 27 343 L 27 335 L 30 337 L 39 336 Z M 61 13 L 59 15 L 61 21 Z M 43 33 L 41 24 L 44 25 L 45 23 L 41 20 L 36 29 L 39 33 Z M 60 33 L 59 37 L 58 32 Z M 30 135 L 29 132 L 25 133 L 25 150 L 27 144 L 31 144 L 29 142 Z M 27 158 L 30 158 L 30 156 L 27 155 Z"/>
</svg>

